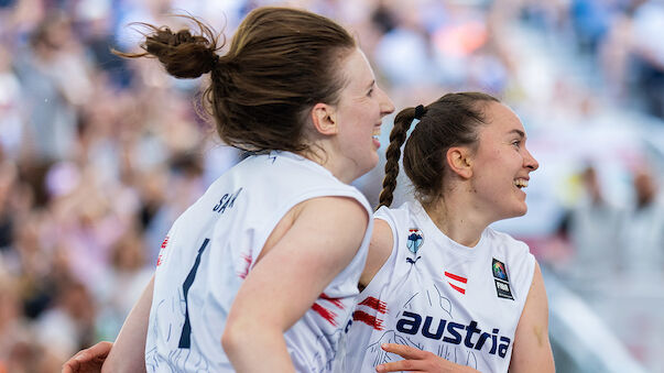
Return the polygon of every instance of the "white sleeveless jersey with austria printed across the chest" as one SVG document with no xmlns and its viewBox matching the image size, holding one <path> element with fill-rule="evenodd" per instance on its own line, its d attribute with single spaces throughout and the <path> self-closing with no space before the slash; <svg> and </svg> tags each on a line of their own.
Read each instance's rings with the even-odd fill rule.
<svg viewBox="0 0 664 373">
<path fill-rule="evenodd" d="M 402 360 L 399 343 L 482 373 L 507 372 L 535 268 L 525 243 L 487 228 L 475 248 L 446 237 L 422 205 L 382 207 L 392 253 L 360 293 L 348 331 L 347 372 Z"/>
</svg>

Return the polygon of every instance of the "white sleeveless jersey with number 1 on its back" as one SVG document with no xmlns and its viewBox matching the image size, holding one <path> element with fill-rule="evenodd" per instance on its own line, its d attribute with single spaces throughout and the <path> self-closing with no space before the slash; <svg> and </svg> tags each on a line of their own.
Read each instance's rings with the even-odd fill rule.
<svg viewBox="0 0 664 373">
<path fill-rule="evenodd" d="M 239 287 L 284 215 L 322 196 L 353 198 L 371 217 L 367 199 L 355 187 L 304 157 L 272 152 L 232 167 L 175 221 L 157 260 L 145 345 L 148 372 L 233 371 L 221 334 Z M 298 372 L 336 366 L 367 259 L 369 220 L 350 264 L 284 333 Z"/>
</svg>

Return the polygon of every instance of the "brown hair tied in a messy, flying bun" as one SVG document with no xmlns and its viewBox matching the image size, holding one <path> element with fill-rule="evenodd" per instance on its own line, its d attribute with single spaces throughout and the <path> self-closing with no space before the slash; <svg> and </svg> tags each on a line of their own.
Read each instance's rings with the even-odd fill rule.
<svg viewBox="0 0 664 373">
<path fill-rule="evenodd" d="M 357 46 L 334 21 L 304 10 L 263 7 L 239 25 L 226 55 L 219 35 L 193 20 L 189 30 L 148 26 L 141 47 L 178 78 L 211 73 L 203 105 L 227 144 L 247 151 L 303 151 L 307 111 L 317 102 L 335 105 L 345 85 L 339 62 Z"/>
</svg>

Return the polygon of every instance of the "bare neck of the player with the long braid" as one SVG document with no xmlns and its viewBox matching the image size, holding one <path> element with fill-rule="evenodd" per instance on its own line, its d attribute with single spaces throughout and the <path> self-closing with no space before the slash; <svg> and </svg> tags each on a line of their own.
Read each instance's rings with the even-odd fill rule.
<svg viewBox="0 0 664 373">
<path fill-rule="evenodd" d="M 424 206 L 424 210 L 445 235 L 468 248 L 479 242 L 489 226 L 481 211 L 472 208 L 472 201 L 462 196 L 440 197 Z"/>
</svg>

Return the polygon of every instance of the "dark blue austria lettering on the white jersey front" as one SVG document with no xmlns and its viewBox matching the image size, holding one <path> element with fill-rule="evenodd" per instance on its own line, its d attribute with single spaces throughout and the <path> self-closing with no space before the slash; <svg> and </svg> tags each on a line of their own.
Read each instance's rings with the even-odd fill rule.
<svg viewBox="0 0 664 373">
<path fill-rule="evenodd" d="M 489 333 L 477 326 L 478 323 L 475 320 L 468 322 L 468 325 L 462 325 L 406 310 L 396 321 L 396 330 L 402 333 L 421 334 L 428 339 L 451 344 L 462 343 L 468 349 L 483 349 L 490 354 L 498 353 L 500 358 L 504 359 L 512 342 L 511 339 L 500 336 L 497 328 L 491 329 L 491 333 Z"/>
</svg>

